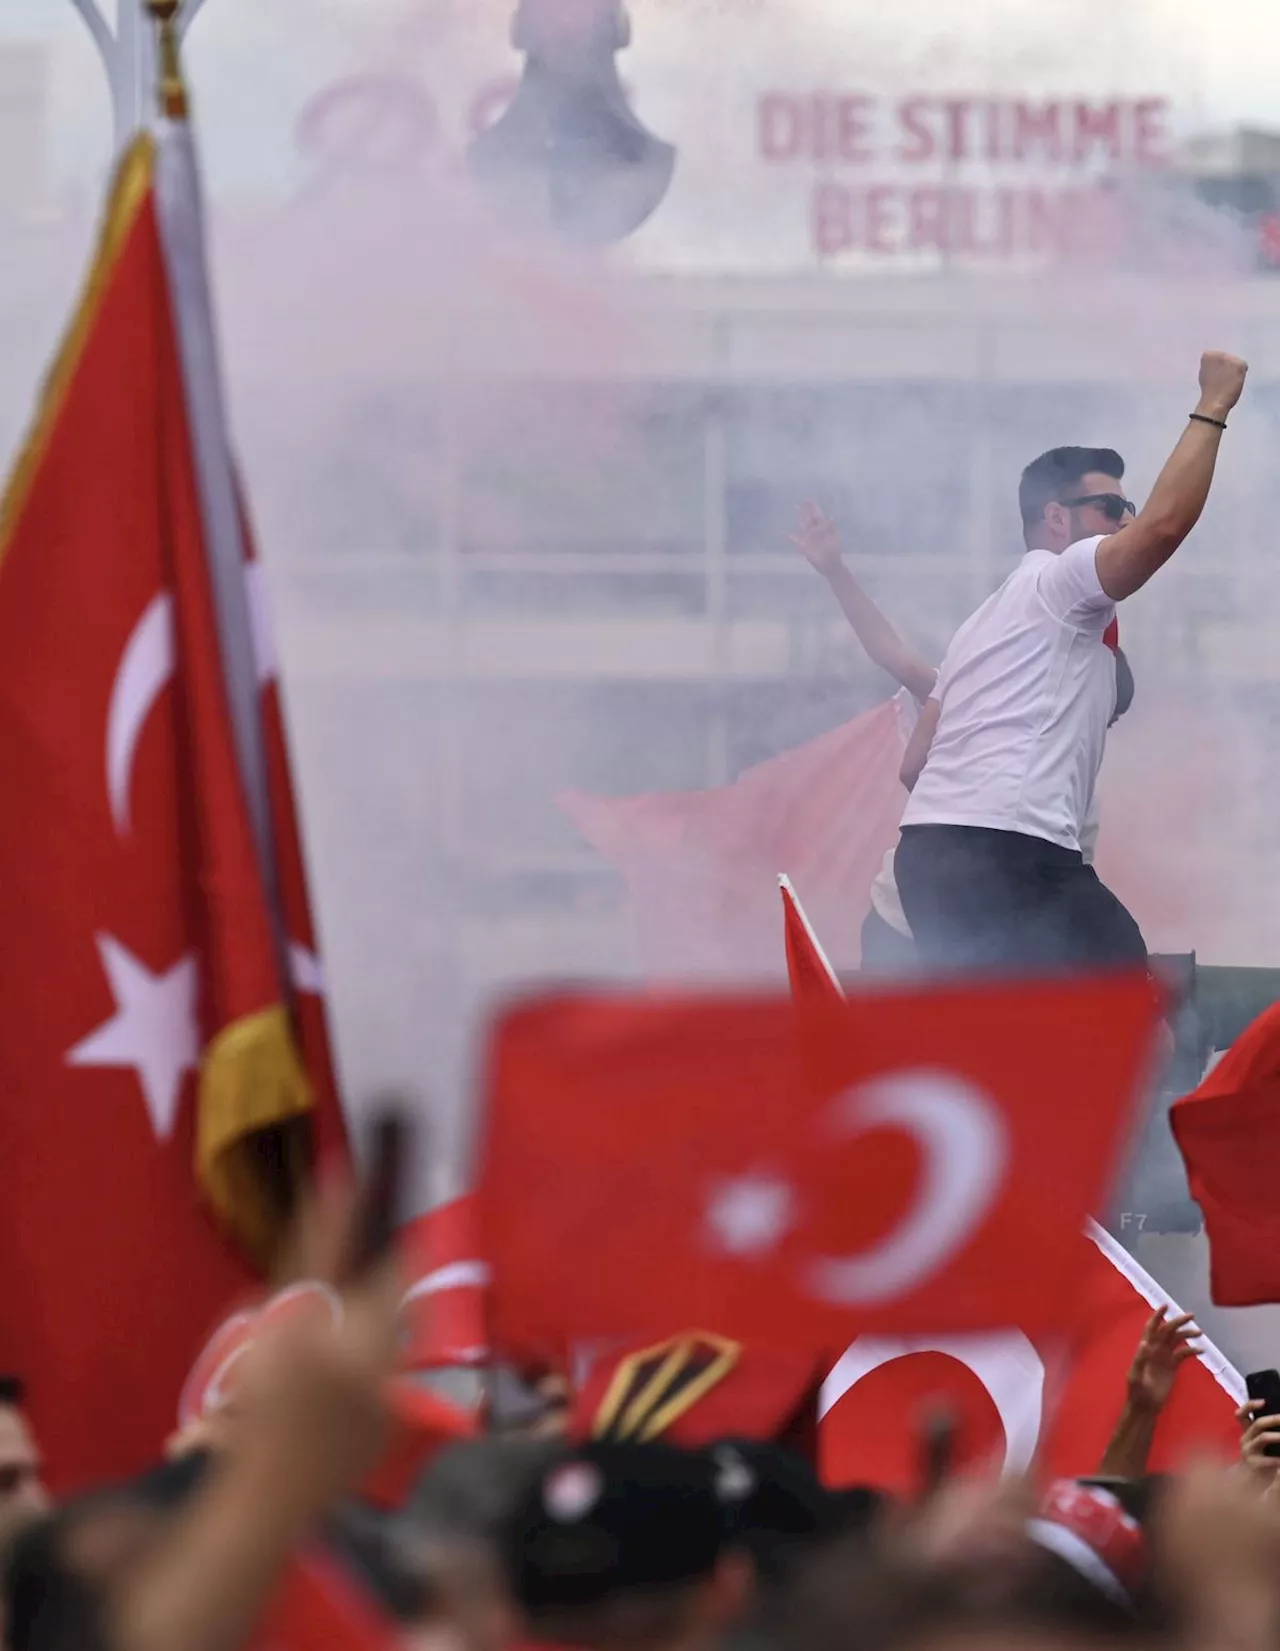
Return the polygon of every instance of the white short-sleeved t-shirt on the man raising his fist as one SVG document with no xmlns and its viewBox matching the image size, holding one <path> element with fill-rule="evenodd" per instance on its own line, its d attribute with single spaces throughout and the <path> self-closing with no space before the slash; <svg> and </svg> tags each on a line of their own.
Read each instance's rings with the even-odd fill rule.
<svg viewBox="0 0 1280 1651">
<path fill-rule="evenodd" d="M 956 631 L 903 826 L 984 826 L 1080 849 L 1115 712 L 1115 660 L 1098 646 L 1115 617 L 1100 543 L 1029 550 Z"/>
</svg>

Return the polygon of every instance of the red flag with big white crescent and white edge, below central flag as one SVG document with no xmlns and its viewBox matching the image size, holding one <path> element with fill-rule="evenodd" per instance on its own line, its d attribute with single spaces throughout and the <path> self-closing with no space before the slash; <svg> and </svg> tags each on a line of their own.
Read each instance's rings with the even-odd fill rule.
<svg viewBox="0 0 1280 1651">
<path fill-rule="evenodd" d="M 1039 1451 L 1047 1476 L 1097 1473 L 1125 1403 L 1125 1379 L 1153 1308 L 1181 1309 L 1110 1233 L 1088 1222 L 1065 1337 L 1052 1349 L 1021 1331 L 996 1336 L 860 1336 L 823 1390 L 819 1453 L 831 1484 L 918 1486 L 922 1412 L 958 1423 L 956 1466 L 1021 1473 Z M 1150 1468 L 1239 1450 L 1244 1382 L 1212 1342 L 1183 1365 L 1156 1426 Z M 1057 1403 L 1045 1393 L 1057 1370 Z M 1054 1384 L 1050 1384 L 1054 1385 Z"/>
</svg>

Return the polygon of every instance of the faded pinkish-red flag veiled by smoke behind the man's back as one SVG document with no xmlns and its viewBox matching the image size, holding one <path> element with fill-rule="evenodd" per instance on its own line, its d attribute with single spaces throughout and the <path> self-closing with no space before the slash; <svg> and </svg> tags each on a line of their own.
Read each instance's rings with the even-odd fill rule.
<svg viewBox="0 0 1280 1651">
<path fill-rule="evenodd" d="M 732 786 L 567 792 L 560 806 L 626 878 L 651 977 L 776 976 L 780 872 L 804 890 L 834 966 L 856 969 L 870 885 L 907 804 L 902 753 L 890 700 Z"/>
</svg>

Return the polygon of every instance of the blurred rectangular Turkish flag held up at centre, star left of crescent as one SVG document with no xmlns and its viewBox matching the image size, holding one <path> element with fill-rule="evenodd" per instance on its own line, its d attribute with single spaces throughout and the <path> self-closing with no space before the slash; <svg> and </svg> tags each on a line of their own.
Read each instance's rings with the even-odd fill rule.
<svg viewBox="0 0 1280 1651">
<path fill-rule="evenodd" d="M 1145 976 L 869 992 L 804 1025 L 755 996 L 517 1007 L 479 1190 L 494 1342 L 1049 1329 L 1154 1020 Z"/>
</svg>

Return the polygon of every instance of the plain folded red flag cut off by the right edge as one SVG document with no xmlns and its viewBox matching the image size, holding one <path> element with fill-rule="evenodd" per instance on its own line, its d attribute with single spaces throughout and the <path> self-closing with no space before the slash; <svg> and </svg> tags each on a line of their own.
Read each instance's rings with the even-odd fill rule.
<svg viewBox="0 0 1280 1651">
<path fill-rule="evenodd" d="M 1212 1299 L 1222 1308 L 1280 1301 L 1280 1004 L 1173 1106 L 1169 1123 L 1204 1212 Z"/>
</svg>

